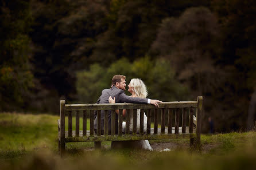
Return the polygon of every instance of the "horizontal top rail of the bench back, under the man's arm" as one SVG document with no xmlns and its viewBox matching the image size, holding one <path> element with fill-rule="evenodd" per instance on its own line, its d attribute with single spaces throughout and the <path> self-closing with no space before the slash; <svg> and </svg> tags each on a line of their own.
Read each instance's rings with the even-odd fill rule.
<svg viewBox="0 0 256 170">
<path fill-rule="evenodd" d="M 197 107 L 197 101 L 173 101 L 162 102 L 159 108 L 190 108 Z M 118 109 L 154 109 L 154 105 L 149 104 L 66 104 L 65 110 L 118 110 Z"/>
</svg>

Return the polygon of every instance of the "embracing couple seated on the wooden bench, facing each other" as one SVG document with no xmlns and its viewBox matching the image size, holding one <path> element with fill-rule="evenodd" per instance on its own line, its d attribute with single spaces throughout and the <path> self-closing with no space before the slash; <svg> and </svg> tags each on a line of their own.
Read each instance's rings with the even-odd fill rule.
<svg viewBox="0 0 256 170">
<path fill-rule="evenodd" d="M 126 77 L 123 75 L 115 75 L 112 78 L 112 86 L 110 89 L 104 89 L 102 90 L 102 95 L 97 100 L 97 104 L 106 104 L 106 103 L 135 103 L 135 104 L 152 104 L 155 106 L 158 106 L 158 103 L 161 103 L 159 100 L 150 100 L 149 98 L 146 98 L 148 96 L 148 91 L 146 89 L 145 84 L 142 80 L 139 78 L 133 78 L 129 85 L 128 85 L 128 92 L 131 93 L 131 96 L 127 96 L 125 94 L 125 88 L 126 88 Z M 116 110 L 116 113 L 118 113 L 119 110 Z M 123 110 L 123 116 L 125 116 L 126 110 Z M 140 118 L 140 109 L 137 109 L 137 131 L 139 131 L 139 118 Z M 96 127 L 97 127 L 97 114 L 94 113 L 94 131 L 96 133 Z M 133 115 L 130 115 L 130 129 L 133 128 Z M 147 124 L 147 117 L 144 113 L 143 118 L 143 131 L 146 132 L 146 124 Z M 102 110 L 101 114 L 101 127 L 102 127 L 102 135 L 103 135 L 103 126 L 104 125 L 104 110 Z M 126 123 L 123 122 L 123 132 L 125 131 Z M 115 133 L 118 134 L 118 116 L 115 116 Z M 108 134 L 111 133 L 111 110 L 108 112 Z M 118 148 L 118 147 L 126 147 L 126 148 L 142 148 L 142 149 L 148 149 L 152 151 L 152 148 L 150 147 L 148 140 L 140 140 L 140 141 L 113 141 L 111 143 L 111 148 Z"/>
</svg>

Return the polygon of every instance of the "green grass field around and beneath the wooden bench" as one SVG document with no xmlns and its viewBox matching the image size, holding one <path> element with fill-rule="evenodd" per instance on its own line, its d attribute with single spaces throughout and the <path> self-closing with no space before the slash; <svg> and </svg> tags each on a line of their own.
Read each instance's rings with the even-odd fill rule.
<svg viewBox="0 0 256 170">
<path fill-rule="evenodd" d="M 0 114 L 0 169 L 251 169 L 256 167 L 256 132 L 201 135 L 201 152 L 189 140 L 152 140 L 173 146 L 170 152 L 110 149 L 93 151 L 92 143 L 70 143 L 57 155 L 57 119 L 49 114 Z M 74 120 L 74 119 L 73 119 Z M 75 125 L 75 122 L 73 123 Z M 82 124 L 80 124 L 82 126 Z M 89 123 L 87 123 L 89 126 Z M 82 127 L 81 127 L 82 128 Z M 154 148 L 153 148 L 154 149 Z M 254 169 L 253 168 L 253 169 Z"/>
</svg>

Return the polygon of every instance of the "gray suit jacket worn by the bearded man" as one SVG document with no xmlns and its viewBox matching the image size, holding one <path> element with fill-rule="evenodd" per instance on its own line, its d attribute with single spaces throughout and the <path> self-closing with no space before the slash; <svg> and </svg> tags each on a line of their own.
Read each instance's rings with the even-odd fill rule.
<svg viewBox="0 0 256 170">
<path fill-rule="evenodd" d="M 114 98 L 116 103 L 129 102 L 137 104 L 148 104 L 148 98 L 130 97 L 125 94 L 125 91 L 113 86 L 110 89 L 102 90 L 102 95 L 97 100 L 97 104 L 107 104 L 109 97 Z M 97 113 L 94 112 L 94 129 L 97 128 Z M 104 110 L 101 111 L 101 128 L 104 129 Z M 118 133 L 118 116 L 115 116 L 115 133 Z M 108 134 L 111 134 L 111 110 L 108 110 Z"/>
</svg>

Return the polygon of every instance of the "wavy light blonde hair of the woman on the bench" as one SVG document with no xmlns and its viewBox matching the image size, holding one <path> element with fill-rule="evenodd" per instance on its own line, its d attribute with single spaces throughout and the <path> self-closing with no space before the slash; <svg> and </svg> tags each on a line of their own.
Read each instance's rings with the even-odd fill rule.
<svg viewBox="0 0 256 170">
<path fill-rule="evenodd" d="M 133 91 L 137 97 L 146 98 L 148 96 L 148 90 L 143 81 L 139 78 L 133 78 L 130 81 L 130 85 L 133 87 Z"/>
</svg>

